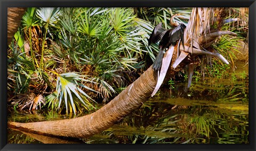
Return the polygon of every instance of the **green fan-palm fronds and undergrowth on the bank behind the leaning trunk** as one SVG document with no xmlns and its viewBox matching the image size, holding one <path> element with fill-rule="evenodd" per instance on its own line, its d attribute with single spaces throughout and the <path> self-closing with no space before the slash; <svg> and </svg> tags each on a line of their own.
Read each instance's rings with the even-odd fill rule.
<svg viewBox="0 0 256 151">
<path fill-rule="evenodd" d="M 187 24 L 191 8 L 28 8 L 7 53 L 9 104 L 14 110 L 94 111 L 96 102 L 113 98 L 151 65 L 158 46 L 148 47 L 147 38 L 159 22 L 171 28 L 175 13 L 182 15 L 174 21 Z M 232 69 L 230 50 L 237 51 L 237 40 L 246 36 L 237 26 L 223 27 L 239 33 L 237 38 L 221 36 L 213 44 Z M 198 81 L 203 72 L 227 77 L 229 68 L 213 59 L 206 69 L 195 69 L 193 78 Z"/>
</svg>

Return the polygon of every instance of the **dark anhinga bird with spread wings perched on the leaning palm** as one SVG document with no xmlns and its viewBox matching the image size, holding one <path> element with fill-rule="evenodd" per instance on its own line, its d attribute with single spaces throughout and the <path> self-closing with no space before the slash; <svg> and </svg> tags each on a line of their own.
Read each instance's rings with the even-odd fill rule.
<svg viewBox="0 0 256 151">
<path fill-rule="evenodd" d="M 150 35 L 148 40 L 148 45 L 151 43 L 157 43 L 159 40 L 159 52 L 156 56 L 156 60 L 153 64 L 153 69 L 159 71 L 162 66 L 162 60 L 165 48 L 169 48 L 171 45 L 175 45 L 179 39 L 181 39 L 182 46 L 184 48 L 184 30 L 186 28 L 185 24 L 178 22 L 173 22 L 173 18 L 180 14 L 172 15 L 170 19 L 171 26 L 175 27 L 173 29 L 164 29 L 162 27 L 162 22 L 158 23 L 157 26 L 153 29 L 153 32 Z"/>
</svg>

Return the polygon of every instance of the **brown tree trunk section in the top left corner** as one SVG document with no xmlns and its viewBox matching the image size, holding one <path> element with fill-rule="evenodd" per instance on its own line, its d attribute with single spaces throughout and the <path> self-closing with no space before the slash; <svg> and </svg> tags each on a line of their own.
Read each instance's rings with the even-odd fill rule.
<svg viewBox="0 0 256 151">
<path fill-rule="evenodd" d="M 27 8 L 23 7 L 8 7 L 7 8 L 7 45 L 12 41 L 12 37 L 20 26 L 23 14 Z"/>
</svg>

